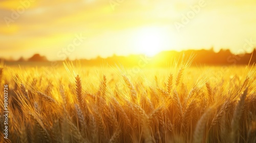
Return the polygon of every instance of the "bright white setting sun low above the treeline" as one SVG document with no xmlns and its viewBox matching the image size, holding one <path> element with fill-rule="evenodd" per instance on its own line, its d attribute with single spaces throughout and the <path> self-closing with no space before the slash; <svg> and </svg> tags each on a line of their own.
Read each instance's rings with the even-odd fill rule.
<svg viewBox="0 0 256 143">
<path fill-rule="evenodd" d="M 168 34 L 158 27 L 146 27 L 137 30 L 134 47 L 138 53 L 155 56 L 168 45 Z"/>
</svg>

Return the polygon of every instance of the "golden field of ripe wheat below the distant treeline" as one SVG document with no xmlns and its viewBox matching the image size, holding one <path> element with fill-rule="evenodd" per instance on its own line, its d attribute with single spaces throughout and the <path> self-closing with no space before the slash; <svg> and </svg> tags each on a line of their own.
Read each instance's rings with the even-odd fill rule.
<svg viewBox="0 0 256 143">
<path fill-rule="evenodd" d="M 2 65 L 0 142 L 255 142 L 255 69 Z"/>
</svg>

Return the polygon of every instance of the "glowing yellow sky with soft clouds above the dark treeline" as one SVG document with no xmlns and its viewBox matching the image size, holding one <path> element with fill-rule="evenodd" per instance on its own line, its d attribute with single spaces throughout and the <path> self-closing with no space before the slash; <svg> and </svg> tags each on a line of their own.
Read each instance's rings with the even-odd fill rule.
<svg viewBox="0 0 256 143">
<path fill-rule="evenodd" d="M 256 47 L 256 1 L 0 0 L 0 57 L 49 60 Z"/>
</svg>

